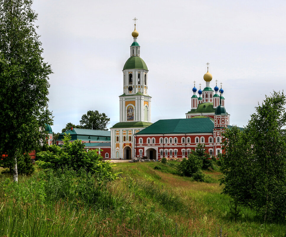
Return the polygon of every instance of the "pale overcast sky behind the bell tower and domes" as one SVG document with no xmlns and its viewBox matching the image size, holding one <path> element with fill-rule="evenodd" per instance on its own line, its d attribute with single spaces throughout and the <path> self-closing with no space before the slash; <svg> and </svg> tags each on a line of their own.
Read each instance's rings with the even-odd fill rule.
<svg viewBox="0 0 286 237">
<path fill-rule="evenodd" d="M 245 126 L 265 95 L 285 89 L 286 1 L 35 0 L 43 57 L 51 64 L 54 132 L 88 110 L 119 122 L 122 69 L 137 17 L 148 67 L 151 122 L 185 118 L 193 81 L 205 87 L 206 63 L 223 83 L 230 124 Z"/>
</svg>

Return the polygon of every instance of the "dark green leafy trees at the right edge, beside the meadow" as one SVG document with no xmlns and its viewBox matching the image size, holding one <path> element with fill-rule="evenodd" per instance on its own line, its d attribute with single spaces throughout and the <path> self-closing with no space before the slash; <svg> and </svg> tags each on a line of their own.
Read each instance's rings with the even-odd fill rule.
<svg viewBox="0 0 286 237">
<path fill-rule="evenodd" d="M 243 131 L 226 130 L 223 193 L 254 207 L 264 221 L 286 221 L 286 97 L 274 92 Z"/>
</svg>

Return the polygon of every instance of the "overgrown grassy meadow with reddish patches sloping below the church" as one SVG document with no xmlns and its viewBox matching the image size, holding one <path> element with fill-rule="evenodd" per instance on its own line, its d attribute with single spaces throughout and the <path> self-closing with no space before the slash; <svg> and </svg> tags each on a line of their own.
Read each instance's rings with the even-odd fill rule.
<svg viewBox="0 0 286 237">
<path fill-rule="evenodd" d="M 100 185 L 74 172 L 0 178 L 0 236 L 286 236 L 244 208 L 231 220 L 219 172 L 206 183 L 174 175 L 177 162 L 117 163 L 120 178 Z"/>
</svg>

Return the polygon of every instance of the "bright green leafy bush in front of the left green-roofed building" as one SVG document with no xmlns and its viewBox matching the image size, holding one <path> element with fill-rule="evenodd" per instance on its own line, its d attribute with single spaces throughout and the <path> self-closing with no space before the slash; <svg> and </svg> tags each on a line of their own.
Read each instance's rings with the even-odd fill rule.
<svg viewBox="0 0 286 237">
<path fill-rule="evenodd" d="M 102 161 L 98 150 L 84 149 L 84 144 L 80 140 L 70 142 L 70 135 L 64 136 L 64 144 L 61 147 L 51 145 L 48 151 L 42 151 L 37 154 L 36 163 L 42 169 L 58 169 L 67 167 L 78 171 L 84 169 L 92 175 L 96 175 L 98 180 L 114 180 L 117 174 L 112 172 L 112 165 L 109 162 Z"/>
</svg>

